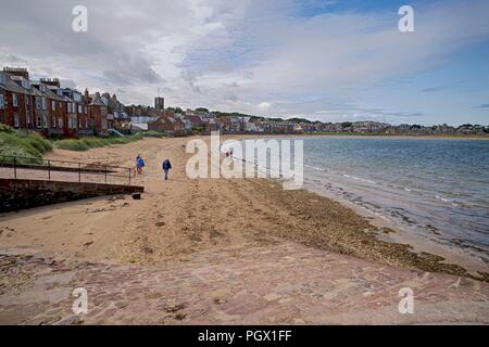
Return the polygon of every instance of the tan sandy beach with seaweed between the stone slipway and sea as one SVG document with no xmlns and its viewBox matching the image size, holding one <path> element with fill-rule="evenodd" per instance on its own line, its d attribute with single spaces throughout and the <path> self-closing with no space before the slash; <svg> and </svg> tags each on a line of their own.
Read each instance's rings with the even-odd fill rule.
<svg viewBox="0 0 489 347">
<path fill-rule="evenodd" d="M 222 140 L 233 138 L 237 137 Z M 184 171 L 186 141 L 147 139 L 84 153 L 55 150 L 47 157 L 83 157 L 117 165 L 130 165 L 142 152 L 149 165 L 135 183 L 147 187 L 143 201 L 96 198 L 5 214 L 0 221 L 15 231 L 0 234 L 2 245 L 28 246 L 89 261 L 155 264 L 170 258 L 185 261 L 202 249 L 273 244 L 278 239 L 379 265 L 489 282 L 488 273 L 466 271 L 461 259 L 452 264 L 447 257 L 422 252 L 411 242 L 392 242 L 391 235 L 401 233 L 384 234 L 383 227 L 336 198 L 306 190 L 283 191 L 271 179 L 190 180 Z M 177 168 L 167 183 L 160 181 L 159 162 L 163 157 L 170 157 Z M 104 230 L 96 233 L 100 218 Z"/>
</svg>

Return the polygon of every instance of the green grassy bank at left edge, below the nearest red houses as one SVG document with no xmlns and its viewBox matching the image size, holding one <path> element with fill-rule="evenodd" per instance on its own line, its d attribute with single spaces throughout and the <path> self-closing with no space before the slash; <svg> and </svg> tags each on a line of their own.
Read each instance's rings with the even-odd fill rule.
<svg viewBox="0 0 489 347">
<path fill-rule="evenodd" d="M 52 150 L 52 143 L 35 132 L 15 130 L 0 125 L 0 160 L 10 162 L 10 156 L 41 159 Z M 20 159 L 20 163 L 25 159 Z M 29 160 L 27 160 L 29 162 Z"/>
</svg>

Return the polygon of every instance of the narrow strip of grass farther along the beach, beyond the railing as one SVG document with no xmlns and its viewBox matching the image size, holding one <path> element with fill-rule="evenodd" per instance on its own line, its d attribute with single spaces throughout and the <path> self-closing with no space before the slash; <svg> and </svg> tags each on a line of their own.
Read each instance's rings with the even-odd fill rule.
<svg viewBox="0 0 489 347">
<path fill-rule="evenodd" d="M 54 141 L 53 144 L 57 149 L 68 151 L 88 151 L 89 149 L 103 147 L 112 144 L 125 144 L 134 141 L 141 140 L 143 138 L 164 138 L 163 132 L 147 131 L 139 132 L 137 134 L 110 138 L 83 138 L 83 139 L 70 139 Z"/>
</svg>

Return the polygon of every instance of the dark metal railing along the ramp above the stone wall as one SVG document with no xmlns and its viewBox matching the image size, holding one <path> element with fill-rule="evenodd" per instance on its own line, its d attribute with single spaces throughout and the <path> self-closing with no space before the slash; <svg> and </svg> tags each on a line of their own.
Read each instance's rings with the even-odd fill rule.
<svg viewBox="0 0 489 347">
<path fill-rule="evenodd" d="M 0 155 L 0 178 L 130 185 L 134 177 L 122 166 Z"/>
</svg>

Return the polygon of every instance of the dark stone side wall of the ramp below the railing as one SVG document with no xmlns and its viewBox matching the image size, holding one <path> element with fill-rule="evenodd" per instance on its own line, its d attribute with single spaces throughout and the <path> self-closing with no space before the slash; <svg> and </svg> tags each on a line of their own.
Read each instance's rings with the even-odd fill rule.
<svg viewBox="0 0 489 347">
<path fill-rule="evenodd" d="M 143 192 L 143 187 L 0 179 L 0 211 L 65 203 L 102 195 Z"/>
</svg>

